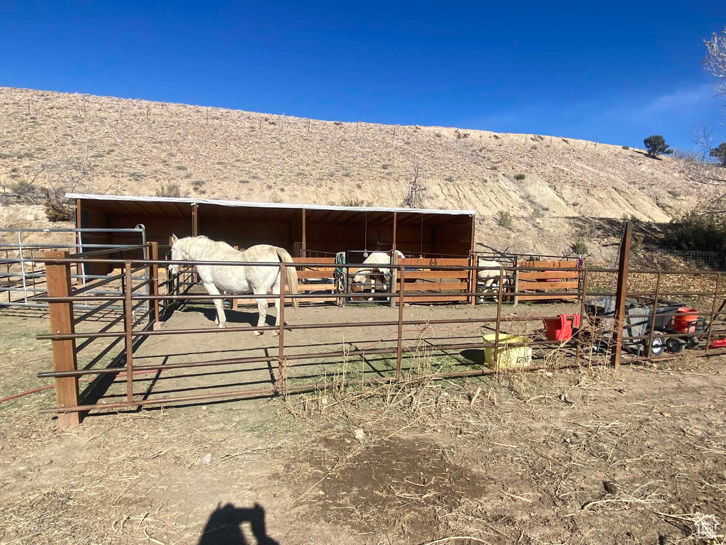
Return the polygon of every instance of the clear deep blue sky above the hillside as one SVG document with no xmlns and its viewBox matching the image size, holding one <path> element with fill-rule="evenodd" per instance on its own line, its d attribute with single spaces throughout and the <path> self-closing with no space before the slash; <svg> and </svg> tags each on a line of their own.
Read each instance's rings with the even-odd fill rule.
<svg viewBox="0 0 726 545">
<path fill-rule="evenodd" d="M 688 148 L 726 140 L 700 62 L 725 26 L 722 0 L 2 0 L 0 85 Z"/>
</svg>

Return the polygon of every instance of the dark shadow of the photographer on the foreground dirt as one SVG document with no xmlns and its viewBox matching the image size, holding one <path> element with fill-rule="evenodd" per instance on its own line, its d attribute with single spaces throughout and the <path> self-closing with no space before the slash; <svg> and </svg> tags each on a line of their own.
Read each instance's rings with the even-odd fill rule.
<svg viewBox="0 0 726 545">
<path fill-rule="evenodd" d="M 255 504 L 251 509 L 219 504 L 209 515 L 197 545 L 248 545 L 249 542 L 240 528 L 242 522 L 250 523 L 257 545 L 280 545 L 267 535 L 265 510 L 260 504 Z"/>
</svg>

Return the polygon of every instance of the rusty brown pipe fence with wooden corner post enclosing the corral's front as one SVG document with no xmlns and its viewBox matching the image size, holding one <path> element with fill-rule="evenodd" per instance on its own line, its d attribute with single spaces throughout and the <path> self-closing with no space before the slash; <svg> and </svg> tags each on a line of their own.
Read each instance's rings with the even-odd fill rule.
<svg viewBox="0 0 726 545">
<path fill-rule="evenodd" d="M 154 243 L 149 244 L 149 254 L 152 259 L 101 259 L 95 255 L 92 257 L 73 257 L 68 252 L 57 252 L 52 251 L 46 253 L 44 259 L 38 259 L 38 262 L 43 262 L 46 266 L 48 274 L 48 296 L 41 298 L 42 301 L 49 304 L 50 313 L 50 324 L 51 333 L 38 336 L 38 339 L 49 339 L 52 342 L 53 347 L 53 371 L 46 371 L 38 374 L 40 378 L 52 378 L 56 384 L 56 395 L 57 395 L 57 406 L 55 408 L 44 409 L 41 412 L 44 413 L 57 413 L 59 415 L 59 423 L 62 426 L 78 424 L 81 421 L 81 412 L 85 411 L 97 411 L 97 410 L 116 410 L 121 408 L 136 408 L 145 405 L 171 405 L 175 403 L 192 403 L 203 400 L 221 400 L 221 399 L 234 399 L 243 398 L 250 396 L 259 395 L 281 395 L 293 392 L 311 391 L 318 387 L 322 387 L 321 382 L 311 382 L 309 384 L 288 384 L 287 383 L 287 372 L 295 368 L 295 366 L 301 366 L 306 361 L 312 360 L 330 360 L 331 358 L 349 358 L 352 356 L 367 356 L 367 355 L 391 355 L 395 357 L 395 374 L 393 376 L 381 376 L 376 379 L 356 379 L 355 384 L 373 384 L 373 383 L 391 383 L 398 382 L 403 378 L 403 374 L 406 371 L 411 371 L 409 368 L 404 368 L 403 360 L 409 356 L 415 357 L 418 353 L 421 354 L 435 354 L 446 352 L 450 350 L 481 350 L 483 348 L 492 349 L 492 367 L 486 365 L 479 366 L 478 368 L 468 368 L 460 371 L 452 371 L 445 373 L 433 374 L 433 378 L 452 378 L 452 377 L 465 377 L 465 376 L 484 376 L 492 373 L 499 372 L 497 368 L 497 355 L 500 350 L 510 349 L 512 347 L 535 347 L 536 349 L 552 349 L 552 350 L 570 350 L 574 351 L 574 358 L 570 358 L 565 363 L 558 363 L 558 367 L 567 366 L 579 366 L 582 363 L 587 365 L 603 365 L 610 363 L 613 366 L 618 366 L 621 363 L 621 350 L 622 348 L 629 347 L 633 342 L 643 341 L 643 339 L 650 339 L 653 342 L 653 329 L 648 332 L 648 335 L 624 336 L 622 333 L 623 320 L 625 320 L 622 310 L 616 312 L 614 316 L 614 328 L 611 331 L 611 350 L 609 351 L 610 358 L 607 355 L 600 355 L 599 353 L 593 352 L 593 339 L 588 339 L 587 329 L 580 328 L 579 331 L 566 342 L 550 341 L 550 340 L 534 340 L 531 342 L 510 342 L 503 344 L 502 336 L 506 334 L 504 329 L 507 324 L 516 322 L 531 322 L 541 321 L 543 319 L 552 319 L 553 316 L 544 314 L 522 314 L 522 315 L 505 315 L 503 312 L 503 301 L 506 296 L 517 295 L 505 294 L 502 288 L 502 279 L 507 273 L 523 272 L 523 271 L 541 271 L 548 270 L 547 267 L 477 267 L 475 266 L 450 266 L 450 265 L 412 265 L 412 264 L 391 264 L 386 267 L 396 271 L 396 275 L 400 279 L 400 290 L 396 294 L 391 293 L 377 293 L 367 294 L 367 296 L 373 296 L 375 299 L 388 299 L 393 298 L 398 304 L 398 318 L 396 320 L 378 320 L 378 321 L 367 321 L 367 322 L 342 322 L 342 323 L 299 323 L 285 325 L 285 304 L 291 302 L 293 299 L 304 301 L 305 299 L 321 297 L 331 299 L 345 298 L 350 299 L 352 297 L 359 297 L 359 292 L 335 293 L 335 294 L 294 294 L 290 292 L 289 286 L 285 283 L 285 270 L 287 267 L 316 267 L 318 263 L 304 263 L 295 262 L 295 264 L 288 264 L 285 262 L 272 262 L 272 263 L 242 263 L 242 262 L 192 262 L 192 261 L 170 261 L 158 259 L 158 246 Z M 73 265 L 78 264 L 82 261 L 85 264 L 97 263 L 97 264 L 108 264 L 115 265 L 121 268 L 122 272 L 117 277 L 121 277 L 123 280 L 123 286 L 120 294 L 89 294 L 87 290 L 73 289 L 70 286 L 70 270 Z M 174 278 L 169 278 L 166 282 L 162 283 L 159 280 L 158 269 L 159 267 L 165 267 L 168 265 L 181 265 L 186 266 L 189 275 L 195 273 L 192 272 L 192 267 L 197 265 L 226 265 L 226 266 L 248 266 L 253 265 L 256 267 L 275 267 L 279 270 L 281 282 L 280 282 L 280 294 L 245 294 L 245 299 L 278 299 L 280 304 L 280 325 L 279 326 L 235 326 L 229 328 L 179 328 L 179 329 L 155 329 L 155 324 L 159 323 L 160 320 L 160 304 L 170 304 L 174 302 L 182 301 L 197 301 L 211 299 L 231 299 L 233 296 L 230 294 L 189 294 L 179 293 L 179 291 L 169 290 L 168 294 L 160 294 L 160 286 L 166 284 L 171 286 L 174 284 Z M 362 264 L 336 264 L 338 267 L 344 268 L 356 268 L 361 267 Z M 714 289 L 711 291 L 666 291 L 661 292 L 661 278 L 664 275 L 678 274 L 683 275 L 684 273 L 669 273 L 658 270 L 634 270 L 629 271 L 627 268 L 627 260 L 621 261 L 619 269 L 586 269 L 581 268 L 570 269 L 563 267 L 561 270 L 576 270 L 583 274 L 582 287 L 577 292 L 579 298 L 579 309 L 584 317 L 585 307 L 588 296 L 590 297 L 612 297 L 616 296 L 616 308 L 624 308 L 625 299 L 628 296 L 653 296 L 654 300 L 658 302 L 663 296 L 677 295 L 681 297 L 686 296 L 702 296 L 708 295 L 713 298 L 711 308 L 709 309 L 709 329 L 707 332 L 701 334 L 702 338 L 707 337 L 705 350 L 702 350 L 701 355 L 717 355 L 726 353 L 723 350 L 713 350 L 709 348 L 711 339 L 714 334 L 720 334 L 721 330 L 717 329 L 712 331 L 711 326 L 714 324 L 714 320 L 717 320 L 722 315 L 726 315 L 723 312 L 724 304 L 721 304 L 717 309 L 717 300 L 720 300 L 724 295 L 720 290 L 720 277 L 722 273 L 706 272 L 706 271 L 693 271 L 690 272 L 694 276 L 699 275 L 711 275 L 714 277 Z M 405 283 L 406 275 L 410 273 L 409 269 L 414 268 L 425 268 L 428 270 L 456 270 L 456 271 L 476 271 L 476 270 L 494 270 L 499 273 L 499 285 L 496 294 L 496 315 L 494 317 L 476 317 L 476 318 L 456 318 L 456 319 L 436 319 L 436 320 L 404 320 L 404 307 L 407 304 L 407 300 L 412 300 L 407 296 L 408 286 Z M 148 280 L 137 284 L 133 284 L 133 273 L 140 269 L 146 269 L 148 271 Z M 612 291 L 595 291 L 588 286 L 589 276 L 597 273 L 616 275 L 617 284 L 619 289 L 616 292 Z M 637 291 L 628 293 L 627 291 L 627 277 L 628 273 L 638 273 L 641 275 L 655 275 L 656 288 L 655 291 Z M 105 280 L 102 280 L 105 281 Z M 178 281 L 178 278 L 177 278 Z M 139 289 L 150 288 L 150 293 L 139 293 Z M 568 291 L 567 294 L 571 295 L 573 292 Z M 465 296 L 476 296 L 476 292 L 466 291 L 462 295 Z M 552 294 L 555 295 L 555 294 Z M 235 295 L 237 296 L 237 295 Z M 449 294 L 431 294 L 432 297 L 437 296 L 446 298 Z M 408 299 L 407 299 L 408 297 Z M 76 333 L 75 326 L 82 320 L 86 319 L 88 313 L 76 318 L 74 316 L 74 304 L 85 301 L 102 301 L 103 307 L 107 304 L 113 304 L 114 302 L 121 302 L 123 304 L 123 315 L 118 317 L 112 326 L 105 328 L 104 331 L 83 331 Z M 142 314 L 140 318 L 137 318 L 134 312 L 139 308 L 141 304 L 148 304 L 148 310 Z M 576 304 L 574 304 L 576 305 Z M 491 307 L 490 307 L 491 308 Z M 532 307 L 534 309 L 534 305 Z M 657 308 L 657 307 L 654 307 Z M 649 315 L 645 315 L 648 318 Z M 629 317 L 628 317 L 629 318 Z M 651 317 L 652 318 L 652 317 Z M 486 326 L 494 331 L 494 340 L 491 342 L 455 342 L 462 339 L 449 339 L 444 344 L 427 344 L 425 346 L 416 346 L 410 344 L 412 339 L 404 338 L 404 327 L 416 327 L 423 326 L 428 327 L 431 325 L 453 325 L 453 324 L 470 324 L 472 326 Z M 113 326 L 122 326 L 121 330 L 109 331 Z M 392 328 L 396 331 L 396 336 L 393 339 L 387 339 L 386 342 L 391 343 L 388 347 L 374 347 L 369 349 L 358 349 L 358 350 L 332 350 L 327 352 L 293 352 L 293 347 L 286 344 L 285 333 L 286 331 L 306 331 L 306 330 L 322 330 L 322 329 L 344 329 L 344 328 L 362 328 L 362 327 L 380 327 L 380 328 Z M 723 327 L 726 330 L 726 324 Z M 164 363 L 160 365 L 139 365 L 136 363 L 134 358 L 134 346 L 135 343 L 141 342 L 142 339 L 150 336 L 175 336 L 175 335 L 199 335 L 199 334 L 231 334 L 235 332 L 253 332 L 253 331 L 274 331 L 277 332 L 277 347 L 274 352 L 276 354 L 268 354 L 265 356 L 251 356 L 241 358 L 221 358 L 215 360 L 196 360 L 188 361 L 183 363 Z M 478 335 L 477 335 L 478 336 Z M 83 342 L 78 347 L 76 341 L 83 339 Z M 119 352 L 117 358 L 106 367 L 94 368 L 86 366 L 86 368 L 78 368 L 77 354 L 79 350 L 87 347 L 91 342 L 97 339 L 109 339 L 112 342 L 123 341 L 123 350 Z M 395 343 L 395 344 L 393 344 Z M 571 355 L 571 354 L 570 354 Z M 668 358 L 666 356 L 665 358 Z M 635 352 L 635 357 L 625 356 L 622 358 L 624 361 L 641 361 L 644 359 L 657 359 L 654 357 L 647 356 L 646 358 L 641 357 L 640 352 Z M 161 373 L 163 371 L 172 371 L 176 369 L 187 369 L 187 368 L 208 368 L 214 366 L 238 366 L 242 364 L 252 363 L 266 363 L 269 368 L 274 371 L 274 381 L 270 387 L 256 388 L 256 389 L 236 389 L 231 392 L 215 392 L 211 394 L 200 394 L 200 395 L 177 395 L 171 397 L 162 397 L 160 399 L 147 399 L 147 397 L 140 397 L 134 392 L 134 377 L 140 373 L 146 373 L 150 371 L 157 371 Z M 542 359 L 542 363 L 539 365 L 529 365 L 523 369 L 542 369 L 552 366 L 552 363 L 547 362 L 547 358 Z M 239 371 L 244 372 L 244 371 Z M 393 372 L 393 368 L 391 369 Z M 78 378 L 84 375 L 96 375 L 96 376 L 118 376 L 119 374 L 125 374 L 126 382 L 126 395 L 125 399 L 121 402 L 115 403 L 88 403 L 88 400 L 81 399 L 78 393 Z M 183 378 L 183 377 L 179 377 Z"/>
</svg>

